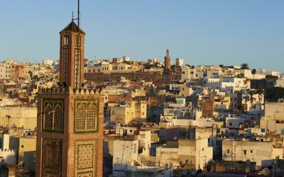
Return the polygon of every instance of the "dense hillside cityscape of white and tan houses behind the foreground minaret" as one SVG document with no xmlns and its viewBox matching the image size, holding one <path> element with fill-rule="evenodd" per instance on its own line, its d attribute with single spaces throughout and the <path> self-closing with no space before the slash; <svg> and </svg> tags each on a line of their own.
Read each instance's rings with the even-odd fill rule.
<svg viewBox="0 0 284 177">
<path fill-rule="evenodd" d="M 59 64 L 0 63 L 1 174 L 34 174 L 38 92 L 59 87 Z M 104 176 L 284 175 L 280 72 L 172 64 L 167 50 L 84 59 L 84 78 L 104 95 Z"/>
</svg>

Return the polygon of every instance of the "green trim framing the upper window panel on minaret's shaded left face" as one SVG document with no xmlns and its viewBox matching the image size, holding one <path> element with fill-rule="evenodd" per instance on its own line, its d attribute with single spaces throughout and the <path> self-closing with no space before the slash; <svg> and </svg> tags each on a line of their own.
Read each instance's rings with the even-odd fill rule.
<svg viewBox="0 0 284 177">
<path fill-rule="evenodd" d="M 62 130 L 61 131 L 55 131 L 55 130 L 50 130 L 50 129 L 45 129 L 44 127 L 43 127 L 43 125 L 44 125 L 44 120 L 45 120 L 45 118 L 44 118 L 44 116 L 45 116 L 45 113 L 43 112 L 43 109 L 44 109 L 44 107 L 45 107 L 45 102 L 53 102 L 53 104 L 54 103 L 62 103 L 62 113 L 63 113 L 63 115 L 62 115 Z M 53 105 L 54 106 L 54 105 Z M 60 133 L 60 134 L 63 134 L 63 132 L 64 132 L 64 106 L 65 106 L 65 104 L 64 104 L 64 98 L 42 98 L 42 106 L 41 106 L 41 112 L 40 112 L 40 114 L 41 114 L 41 131 L 43 131 L 43 132 L 47 132 L 47 133 Z"/>
</svg>

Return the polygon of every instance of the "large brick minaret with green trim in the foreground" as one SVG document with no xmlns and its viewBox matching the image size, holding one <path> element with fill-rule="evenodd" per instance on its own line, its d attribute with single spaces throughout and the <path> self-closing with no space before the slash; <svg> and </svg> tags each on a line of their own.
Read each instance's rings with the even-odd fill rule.
<svg viewBox="0 0 284 177">
<path fill-rule="evenodd" d="M 84 88 L 84 36 L 78 10 L 60 31 L 59 87 L 38 91 L 38 177 L 102 176 L 104 96 Z"/>
</svg>

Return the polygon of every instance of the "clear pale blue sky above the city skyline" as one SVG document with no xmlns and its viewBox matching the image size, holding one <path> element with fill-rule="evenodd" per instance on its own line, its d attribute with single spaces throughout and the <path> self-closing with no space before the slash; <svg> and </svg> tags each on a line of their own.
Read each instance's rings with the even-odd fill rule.
<svg viewBox="0 0 284 177">
<path fill-rule="evenodd" d="M 85 57 L 163 59 L 284 72 L 283 0 L 81 0 Z M 0 61 L 59 59 L 77 0 L 0 0 Z M 74 13 L 75 14 L 75 13 Z"/>
</svg>

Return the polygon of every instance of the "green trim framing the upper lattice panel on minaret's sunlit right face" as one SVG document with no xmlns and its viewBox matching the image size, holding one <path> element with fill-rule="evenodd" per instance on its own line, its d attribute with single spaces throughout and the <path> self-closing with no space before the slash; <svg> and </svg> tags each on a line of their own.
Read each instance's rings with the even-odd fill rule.
<svg viewBox="0 0 284 177">
<path fill-rule="evenodd" d="M 95 103 L 97 106 L 97 120 L 96 120 L 96 124 L 97 124 L 97 130 L 96 131 L 76 131 L 76 110 L 77 110 L 77 105 L 76 103 L 78 102 L 86 102 L 86 103 Z M 75 134 L 83 134 L 83 133 L 98 133 L 99 132 L 99 100 L 97 99 L 84 99 L 84 98 L 75 98 L 74 99 L 74 115 L 73 115 L 73 132 Z"/>
</svg>

